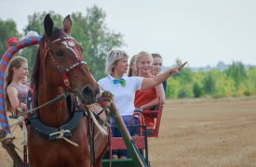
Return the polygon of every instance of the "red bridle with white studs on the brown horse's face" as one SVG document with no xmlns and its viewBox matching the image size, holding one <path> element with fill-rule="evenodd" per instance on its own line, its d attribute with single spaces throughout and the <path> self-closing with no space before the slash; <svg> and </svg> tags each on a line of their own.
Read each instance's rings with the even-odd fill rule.
<svg viewBox="0 0 256 167">
<path fill-rule="evenodd" d="M 70 67 L 66 68 L 66 69 L 61 69 L 60 63 L 58 62 L 58 60 L 56 60 L 52 55 L 54 54 L 52 51 L 52 45 L 56 44 L 56 43 L 61 43 L 62 45 L 65 45 L 65 47 L 67 49 L 69 49 L 70 51 L 72 51 L 74 53 L 75 58 L 77 58 L 77 61 L 71 65 Z M 54 64 L 56 65 L 58 71 L 61 73 L 61 76 L 63 78 L 63 82 L 66 85 L 67 89 L 70 90 L 71 89 L 71 84 L 69 82 L 69 78 L 68 78 L 68 73 L 73 71 L 75 68 L 79 67 L 79 66 L 86 66 L 86 68 L 88 67 L 88 64 L 86 61 L 84 61 L 82 55 L 79 53 L 79 51 L 77 50 L 77 48 L 75 47 L 75 41 L 73 37 L 61 37 L 58 38 L 54 41 L 52 41 L 50 44 L 47 44 L 47 52 L 46 52 L 46 57 L 47 54 L 49 54 L 50 58 L 52 59 L 52 61 L 54 62 Z M 46 58 L 45 57 L 45 58 Z"/>
</svg>

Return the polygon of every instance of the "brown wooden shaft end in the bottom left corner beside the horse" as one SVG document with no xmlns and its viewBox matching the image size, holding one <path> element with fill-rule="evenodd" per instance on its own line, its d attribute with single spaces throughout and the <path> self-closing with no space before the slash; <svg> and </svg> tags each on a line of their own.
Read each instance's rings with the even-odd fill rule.
<svg viewBox="0 0 256 167">
<path fill-rule="evenodd" d="M 2 147 L 7 150 L 8 155 L 13 161 L 13 166 L 15 167 L 21 167 L 23 164 L 23 161 L 21 160 L 19 154 L 15 150 L 15 145 L 12 142 L 7 142 L 6 140 L 1 141 Z"/>
</svg>

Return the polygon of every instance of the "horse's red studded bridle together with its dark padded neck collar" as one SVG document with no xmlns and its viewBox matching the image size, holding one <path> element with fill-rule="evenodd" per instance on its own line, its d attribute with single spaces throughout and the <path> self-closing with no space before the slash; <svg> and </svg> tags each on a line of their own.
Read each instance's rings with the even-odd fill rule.
<svg viewBox="0 0 256 167">
<path fill-rule="evenodd" d="M 52 56 L 54 54 L 53 45 L 60 44 L 60 43 L 61 45 L 65 45 L 66 49 L 73 52 L 76 58 L 76 61 L 74 62 L 74 64 L 66 69 L 62 69 L 60 66 L 60 63 Z M 40 135 L 45 136 L 49 141 L 57 140 L 60 137 L 70 138 L 72 137 L 72 133 L 74 132 L 75 127 L 77 127 L 77 125 L 82 121 L 84 116 L 88 117 L 88 114 L 87 112 L 85 112 L 84 109 L 82 109 L 80 105 L 76 105 L 77 101 L 75 100 L 74 95 L 70 93 L 71 84 L 67 74 L 68 72 L 73 71 L 75 68 L 79 66 L 84 66 L 84 65 L 87 66 L 87 63 L 83 60 L 80 52 L 75 47 L 75 41 L 74 41 L 74 38 L 72 37 L 61 37 L 50 42 L 49 44 L 47 44 L 47 42 L 45 41 L 45 49 L 46 49 L 45 58 L 48 55 L 52 59 L 58 71 L 61 73 L 61 76 L 63 78 L 63 83 L 65 84 L 67 91 L 66 93 L 60 96 L 57 96 L 56 98 L 50 100 L 46 104 L 38 107 L 37 98 L 35 95 L 36 93 L 34 91 L 34 87 L 32 87 L 31 90 L 28 92 L 28 98 L 27 98 L 27 107 L 29 109 L 28 111 L 26 111 L 29 117 L 27 120 L 27 123 L 30 123 L 32 127 Z M 64 99 L 67 101 L 70 115 L 72 115 L 71 119 L 64 124 L 61 124 L 60 127 L 48 126 L 43 122 L 41 122 L 38 109 L 44 106 L 47 106 L 49 104 L 60 102 L 61 100 L 64 100 Z"/>
</svg>

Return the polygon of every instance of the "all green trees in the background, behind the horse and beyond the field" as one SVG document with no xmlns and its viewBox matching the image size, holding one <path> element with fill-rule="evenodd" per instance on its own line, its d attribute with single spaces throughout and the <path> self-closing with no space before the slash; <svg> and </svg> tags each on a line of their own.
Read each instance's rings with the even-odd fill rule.
<svg viewBox="0 0 256 167">
<path fill-rule="evenodd" d="M 61 27 L 63 17 L 53 11 L 48 12 L 56 23 Z M 43 20 L 47 12 L 34 13 L 28 16 L 28 24 L 23 32 L 18 32 L 14 20 L 0 19 L 0 56 L 7 51 L 7 40 L 11 36 L 22 37 L 30 31 L 43 35 Z M 72 36 L 84 48 L 83 58 L 88 62 L 88 68 L 92 71 L 96 80 L 105 76 L 105 56 L 113 47 L 125 45 L 123 35 L 113 32 L 105 24 L 105 13 L 98 6 L 87 8 L 84 16 L 80 12 L 72 13 L 73 32 Z M 29 69 L 34 67 L 34 59 L 37 54 L 37 46 L 22 49 L 19 53 L 28 59 Z M 181 61 L 176 61 L 176 66 Z M 253 96 L 256 95 L 256 68 L 248 70 L 240 62 L 233 64 L 225 71 L 212 69 L 210 71 L 192 71 L 184 68 L 182 72 L 168 79 L 168 98 L 183 97 L 222 97 L 222 96 Z"/>
</svg>

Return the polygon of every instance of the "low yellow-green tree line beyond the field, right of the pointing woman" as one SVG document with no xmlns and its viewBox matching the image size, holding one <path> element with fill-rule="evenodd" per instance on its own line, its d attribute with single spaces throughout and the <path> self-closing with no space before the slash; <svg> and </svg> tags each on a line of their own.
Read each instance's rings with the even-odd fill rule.
<svg viewBox="0 0 256 167">
<path fill-rule="evenodd" d="M 177 60 L 177 65 L 181 64 Z M 227 70 L 191 71 L 184 68 L 168 79 L 167 97 L 255 96 L 256 68 L 248 70 L 241 62 L 233 62 Z"/>
</svg>

